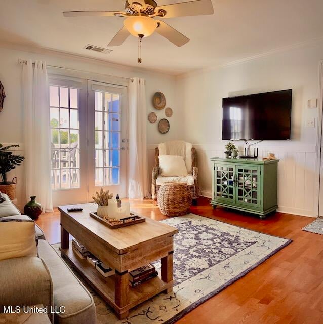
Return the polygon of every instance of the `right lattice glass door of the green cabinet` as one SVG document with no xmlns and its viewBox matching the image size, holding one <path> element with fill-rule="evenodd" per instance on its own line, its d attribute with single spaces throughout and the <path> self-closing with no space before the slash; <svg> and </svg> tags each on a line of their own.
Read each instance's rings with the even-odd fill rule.
<svg viewBox="0 0 323 324">
<path fill-rule="evenodd" d="M 260 167 L 236 167 L 236 204 L 260 206 Z"/>
</svg>

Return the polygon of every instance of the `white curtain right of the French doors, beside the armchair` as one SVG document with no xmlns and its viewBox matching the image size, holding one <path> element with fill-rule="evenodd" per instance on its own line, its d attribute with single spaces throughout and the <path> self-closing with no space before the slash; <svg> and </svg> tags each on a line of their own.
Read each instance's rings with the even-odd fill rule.
<svg viewBox="0 0 323 324">
<path fill-rule="evenodd" d="M 145 80 L 134 77 L 129 86 L 128 197 L 150 198 L 146 131 Z"/>
</svg>

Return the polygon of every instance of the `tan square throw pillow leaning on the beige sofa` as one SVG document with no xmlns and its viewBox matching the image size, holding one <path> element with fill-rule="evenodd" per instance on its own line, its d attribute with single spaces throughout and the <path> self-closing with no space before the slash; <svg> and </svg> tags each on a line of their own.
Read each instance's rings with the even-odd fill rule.
<svg viewBox="0 0 323 324">
<path fill-rule="evenodd" d="M 0 260 L 36 257 L 36 239 L 32 219 L 0 218 Z"/>
</svg>

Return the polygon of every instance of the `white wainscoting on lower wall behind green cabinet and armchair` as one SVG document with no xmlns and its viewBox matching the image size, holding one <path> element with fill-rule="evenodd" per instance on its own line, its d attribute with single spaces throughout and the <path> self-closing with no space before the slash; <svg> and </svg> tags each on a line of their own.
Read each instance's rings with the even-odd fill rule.
<svg viewBox="0 0 323 324">
<path fill-rule="evenodd" d="M 151 170 L 154 165 L 154 148 L 148 145 L 148 165 L 151 182 Z M 196 148 L 199 169 L 200 194 L 211 198 L 211 157 L 224 157 L 223 145 L 193 144 Z M 257 147 L 257 146 L 256 146 Z M 281 146 L 258 146 L 259 158 L 274 152 L 278 163 L 278 211 L 309 217 L 317 217 L 318 201 L 315 193 L 318 188 L 315 175 L 315 145 L 288 144 Z M 243 155 L 243 150 L 239 155 Z"/>
</svg>

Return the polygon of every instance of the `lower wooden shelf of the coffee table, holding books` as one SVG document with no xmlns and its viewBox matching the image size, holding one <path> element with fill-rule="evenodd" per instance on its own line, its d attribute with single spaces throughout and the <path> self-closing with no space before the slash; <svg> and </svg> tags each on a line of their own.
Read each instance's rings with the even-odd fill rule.
<svg viewBox="0 0 323 324">
<path fill-rule="evenodd" d="M 129 286 L 129 303 L 120 308 L 115 303 L 114 294 L 114 275 L 105 278 L 101 275 L 87 260 L 80 259 L 73 252 L 72 244 L 69 242 L 69 249 L 59 248 L 62 257 L 67 258 L 77 270 L 77 272 L 84 277 L 84 279 L 98 292 L 102 299 L 108 303 L 120 317 L 121 314 L 128 314 L 128 311 L 138 304 L 150 299 L 163 291 L 170 291 L 173 287 L 173 281 L 165 282 L 158 276 L 143 282 L 136 287 Z"/>
</svg>

